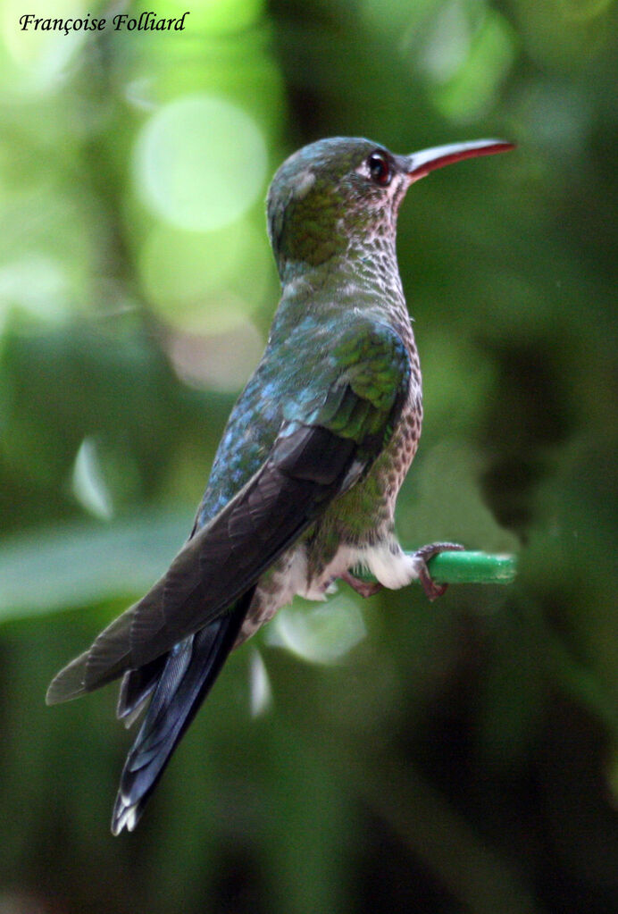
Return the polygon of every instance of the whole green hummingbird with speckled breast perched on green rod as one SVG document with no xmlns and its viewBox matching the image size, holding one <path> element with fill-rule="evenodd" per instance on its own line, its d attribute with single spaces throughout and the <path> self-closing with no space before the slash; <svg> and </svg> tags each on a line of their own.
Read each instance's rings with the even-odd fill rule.
<svg viewBox="0 0 618 914">
<path fill-rule="evenodd" d="M 120 679 L 143 722 L 112 833 L 133 831 L 229 652 L 337 579 L 367 597 L 463 547 L 401 548 L 397 494 L 421 436 L 421 367 L 396 254 L 400 203 L 443 165 L 506 152 L 478 140 L 392 154 L 366 139 L 304 146 L 275 174 L 268 231 L 282 284 L 268 344 L 232 409 L 193 528 L 163 577 L 48 688 L 49 705 Z M 368 569 L 375 581 L 359 577 Z"/>
</svg>

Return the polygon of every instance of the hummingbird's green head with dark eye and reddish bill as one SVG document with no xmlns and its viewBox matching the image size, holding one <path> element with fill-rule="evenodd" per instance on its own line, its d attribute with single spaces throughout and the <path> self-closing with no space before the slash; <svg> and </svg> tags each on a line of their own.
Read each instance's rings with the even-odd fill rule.
<svg viewBox="0 0 618 914">
<path fill-rule="evenodd" d="M 401 200 L 435 168 L 512 149 L 501 140 L 396 155 L 370 140 L 334 137 L 304 146 L 272 179 L 268 228 L 280 275 L 319 266 L 377 237 L 394 241 Z"/>
</svg>

